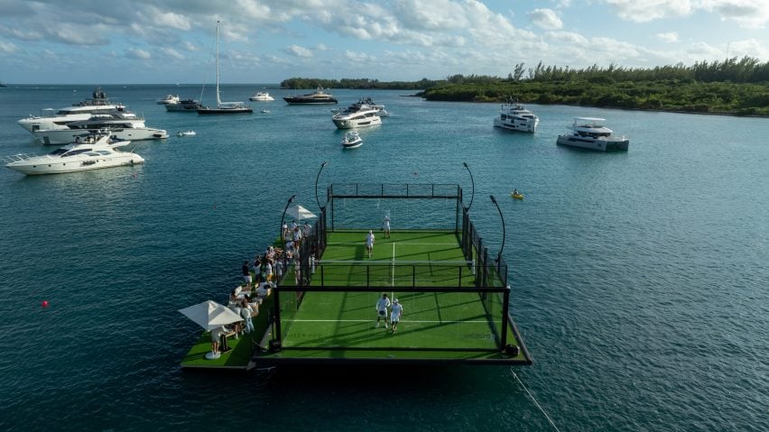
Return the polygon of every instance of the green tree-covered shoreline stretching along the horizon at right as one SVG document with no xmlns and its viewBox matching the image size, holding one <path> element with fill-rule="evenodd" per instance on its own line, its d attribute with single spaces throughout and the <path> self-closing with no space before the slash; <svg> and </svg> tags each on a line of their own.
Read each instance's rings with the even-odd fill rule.
<svg viewBox="0 0 769 432">
<path fill-rule="evenodd" d="M 414 96 L 455 102 L 515 100 L 542 105 L 769 116 L 769 62 L 751 57 L 678 63 L 655 68 L 586 69 L 514 66 L 507 78 L 452 75 L 446 79 L 384 82 L 368 78 L 289 78 L 284 88 L 421 90 Z"/>
</svg>

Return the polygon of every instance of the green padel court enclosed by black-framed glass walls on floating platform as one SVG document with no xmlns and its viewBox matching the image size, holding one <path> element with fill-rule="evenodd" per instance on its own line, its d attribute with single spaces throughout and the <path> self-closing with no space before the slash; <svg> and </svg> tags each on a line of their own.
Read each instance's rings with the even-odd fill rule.
<svg viewBox="0 0 769 432">
<path fill-rule="evenodd" d="M 327 197 L 275 290 L 273 346 L 467 355 L 516 345 L 507 265 L 489 259 L 458 185 L 333 184 Z M 377 326 L 383 294 L 403 305 L 396 333 Z"/>
</svg>

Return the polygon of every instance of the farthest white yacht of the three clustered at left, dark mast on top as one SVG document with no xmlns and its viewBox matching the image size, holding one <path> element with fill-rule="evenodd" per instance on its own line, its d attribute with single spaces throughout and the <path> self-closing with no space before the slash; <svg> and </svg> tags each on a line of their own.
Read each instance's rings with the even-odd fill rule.
<svg viewBox="0 0 769 432">
<path fill-rule="evenodd" d="M 18 124 L 30 133 L 40 129 L 63 129 L 67 127 L 66 124 L 88 120 L 93 114 L 115 111 L 130 113 L 122 104 L 109 102 L 101 87 L 97 87 L 91 99 L 60 108 L 58 111 L 52 108 L 43 109 L 42 115 L 30 115 L 19 120 Z"/>
</svg>

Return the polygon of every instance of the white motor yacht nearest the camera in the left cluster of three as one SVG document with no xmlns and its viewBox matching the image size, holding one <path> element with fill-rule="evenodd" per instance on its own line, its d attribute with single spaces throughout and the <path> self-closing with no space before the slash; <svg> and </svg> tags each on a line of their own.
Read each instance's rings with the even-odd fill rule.
<svg viewBox="0 0 769 432">
<path fill-rule="evenodd" d="M 130 141 L 113 142 L 105 135 L 88 135 L 82 141 L 67 144 L 54 152 L 39 156 L 16 154 L 5 158 L 5 167 L 24 174 L 58 174 L 83 170 L 119 167 L 144 163 L 134 152 L 118 152 Z"/>
</svg>

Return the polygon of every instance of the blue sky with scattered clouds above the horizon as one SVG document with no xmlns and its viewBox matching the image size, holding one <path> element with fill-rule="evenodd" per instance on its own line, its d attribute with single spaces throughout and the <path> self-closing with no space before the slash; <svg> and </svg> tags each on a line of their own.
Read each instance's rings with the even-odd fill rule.
<svg viewBox="0 0 769 432">
<path fill-rule="evenodd" d="M 0 81 L 506 77 L 514 65 L 769 61 L 769 0 L 0 0 Z"/>
</svg>

